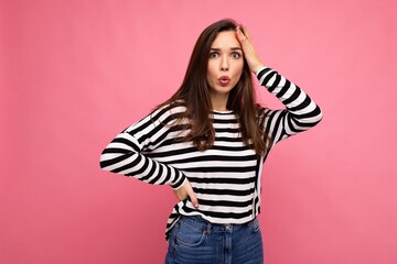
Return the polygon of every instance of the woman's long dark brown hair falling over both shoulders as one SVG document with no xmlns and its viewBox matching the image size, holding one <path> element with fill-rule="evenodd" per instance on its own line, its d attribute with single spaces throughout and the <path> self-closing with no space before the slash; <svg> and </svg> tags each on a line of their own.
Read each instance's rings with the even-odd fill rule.
<svg viewBox="0 0 397 264">
<path fill-rule="evenodd" d="M 198 36 L 187 70 L 179 90 L 158 108 L 167 105 L 180 103 L 186 107 L 186 111 L 179 120 L 187 119 L 190 133 L 182 141 L 192 141 L 200 150 L 208 150 L 215 141 L 215 130 L 211 119 L 212 102 L 210 86 L 206 81 L 207 63 L 211 46 L 219 32 L 235 31 L 237 23 L 226 19 L 207 26 Z M 268 147 L 268 136 L 264 134 L 262 124 L 265 117 L 258 117 L 260 107 L 256 103 L 254 85 L 248 64 L 244 58 L 243 74 L 239 81 L 230 90 L 227 109 L 236 114 L 242 139 L 246 145 L 255 150 L 257 155 L 265 155 Z M 258 119 L 261 120 L 258 122 Z M 186 128 L 187 128 L 186 127 Z"/>
</svg>

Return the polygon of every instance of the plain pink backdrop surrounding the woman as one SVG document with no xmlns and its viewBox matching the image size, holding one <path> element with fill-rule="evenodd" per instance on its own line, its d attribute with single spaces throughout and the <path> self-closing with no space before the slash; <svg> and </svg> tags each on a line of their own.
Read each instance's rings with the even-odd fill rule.
<svg viewBox="0 0 397 264">
<path fill-rule="evenodd" d="M 163 262 L 170 187 L 98 158 L 178 89 L 200 32 L 223 18 L 324 111 L 266 163 L 267 264 L 397 263 L 396 6 L 2 0 L 0 263 Z"/>
</svg>

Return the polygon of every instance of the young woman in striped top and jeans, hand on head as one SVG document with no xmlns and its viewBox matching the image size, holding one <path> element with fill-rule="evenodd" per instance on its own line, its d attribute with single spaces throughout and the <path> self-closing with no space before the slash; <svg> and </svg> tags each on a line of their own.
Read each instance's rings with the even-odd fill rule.
<svg viewBox="0 0 397 264">
<path fill-rule="evenodd" d="M 255 101 L 251 74 L 285 106 Z M 320 108 L 258 57 L 232 20 L 200 35 L 180 89 L 118 134 L 100 166 L 180 200 L 167 224 L 165 263 L 262 263 L 260 174 L 276 143 L 320 122 Z"/>
</svg>

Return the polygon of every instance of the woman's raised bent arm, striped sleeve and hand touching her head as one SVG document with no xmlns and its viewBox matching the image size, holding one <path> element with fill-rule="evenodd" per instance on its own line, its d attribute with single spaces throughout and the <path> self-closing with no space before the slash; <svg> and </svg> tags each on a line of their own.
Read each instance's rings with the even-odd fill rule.
<svg viewBox="0 0 397 264">
<path fill-rule="evenodd" d="M 265 66 L 245 25 L 237 26 L 236 37 L 242 44 L 249 69 L 257 75 L 260 85 L 266 86 L 286 106 L 285 110 L 266 110 L 268 119 L 265 134 L 271 135 L 272 144 L 319 123 L 322 119 L 319 106 L 293 82 Z"/>
</svg>

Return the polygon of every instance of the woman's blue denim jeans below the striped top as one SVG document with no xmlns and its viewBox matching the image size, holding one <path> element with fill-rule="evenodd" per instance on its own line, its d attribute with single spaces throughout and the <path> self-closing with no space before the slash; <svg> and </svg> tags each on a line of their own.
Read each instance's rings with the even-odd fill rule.
<svg viewBox="0 0 397 264">
<path fill-rule="evenodd" d="M 201 217 L 181 217 L 172 228 L 165 264 L 261 264 L 257 219 L 244 224 L 213 224 Z"/>
</svg>

